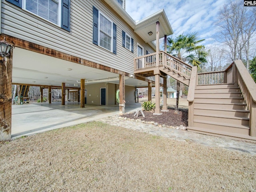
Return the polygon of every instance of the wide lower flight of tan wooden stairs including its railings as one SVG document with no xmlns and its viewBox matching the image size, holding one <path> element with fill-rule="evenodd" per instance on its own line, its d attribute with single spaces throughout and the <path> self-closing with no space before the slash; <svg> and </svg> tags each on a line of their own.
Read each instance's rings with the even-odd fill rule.
<svg viewBox="0 0 256 192">
<path fill-rule="evenodd" d="M 220 72 L 193 67 L 188 102 L 188 131 L 256 141 L 256 84 L 241 60 Z"/>
</svg>

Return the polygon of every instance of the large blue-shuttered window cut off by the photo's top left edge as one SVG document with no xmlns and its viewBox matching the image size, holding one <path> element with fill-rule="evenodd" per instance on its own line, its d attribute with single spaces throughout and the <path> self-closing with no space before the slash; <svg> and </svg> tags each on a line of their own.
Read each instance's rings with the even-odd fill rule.
<svg viewBox="0 0 256 192">
<path fill-rule="evenodd" d="M 70 31 L 70 0 L 6 0 Z"/>
</svg>

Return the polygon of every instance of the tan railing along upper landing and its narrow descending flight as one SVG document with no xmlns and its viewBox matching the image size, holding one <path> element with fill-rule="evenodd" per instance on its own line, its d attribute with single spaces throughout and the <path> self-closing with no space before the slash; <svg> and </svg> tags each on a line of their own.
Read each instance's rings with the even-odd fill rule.
<svg viewBox="0 0 256 192">
<path fill-rule="evenodd" d="M 176 57 L 164 52 L 160 51 L 158 53 L 159 63 L 156 63 L 156 53 L 147 54 L 144 56 L 140 56 L 134 59 L 134 70 L 141 70 L 152 68 L 156 66 L 164 66 L 177 72 L 178 74 L 184 76 L 189 79 L 192 71 L 192 66 L 186 64 L 182 60 L 177 59 Z"/>
</svg>

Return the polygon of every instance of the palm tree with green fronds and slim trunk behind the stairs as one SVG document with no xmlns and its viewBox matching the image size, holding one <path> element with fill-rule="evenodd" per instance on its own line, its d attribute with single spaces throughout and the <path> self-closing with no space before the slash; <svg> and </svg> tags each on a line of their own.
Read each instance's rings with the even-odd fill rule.
<svg viewBox="0 0 256 192">
<path fill-rule="evenodd" d="M 167 38 L 167 52 L 176 58 L 188 62 L 192 66 L 197 66 L 207 62 L 207 52 L 203 45 L 198 45 L 204 39 L 198 40 L 198 32 L 187 35 L 179 35 L 176 38 Z M 176 109 L 178 110 L 180 96 L 180 82 L 177 81 L 177 100 Z"/>
</svg>

